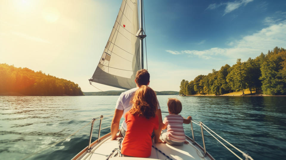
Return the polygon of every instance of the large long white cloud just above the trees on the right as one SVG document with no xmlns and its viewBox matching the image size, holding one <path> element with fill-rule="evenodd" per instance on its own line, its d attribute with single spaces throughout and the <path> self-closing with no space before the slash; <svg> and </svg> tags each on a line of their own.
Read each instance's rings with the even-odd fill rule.
<svg viewBox="0 0 286 160">
<path fill-rule="evenodd" d="M 240 40 L 228 43 L 232 48 L 210 48 L 203 51 L 184 50 L 175 51 L 177 54 L 191 54 L 202 59 L 212 59 L 217 56 L 229 57 L 232 59 L 248 57 L 255 58 L 261 52 L 267 53 L 275 46 L 286 47 L 286 23 L 279 23 L 264 28 L 252 35 L 243 37 Z M 168 51 L 172 52 L 172 51 Z"/>
</svg>

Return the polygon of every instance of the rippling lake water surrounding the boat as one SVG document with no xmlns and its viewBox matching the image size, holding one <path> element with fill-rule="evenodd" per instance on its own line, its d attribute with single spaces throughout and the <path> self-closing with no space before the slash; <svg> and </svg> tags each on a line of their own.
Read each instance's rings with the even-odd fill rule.
<svg viewBox="0 0 286 160">
<path fill-rule="evenodd" d="M 158 95 L 162 111 L 168 98 L 183 104 L 181 115 L 192 116 L 251 155 L 254 159 L 284 159 L 286 155 L 286 97 L 181 97 Z M 55 146 L 91 121 L 114 113 L 118 96 L 0 96 L 0 159 L 71 159 L 88 145 L 90 125 Z M 164 118 L 166 114 L 162 114 Z M 103 120 L 110 126 L 112 117 Z M 99 121 L 94 123 L 97 139 Z M 185 133 L 192 137 L 190 125 Z M 200 127 L 195 140 L 202 145 Z M 101 131 L 101 136 L 110 128 Z M 206 131 L 206 150 L 215 159 L 237 159 Z M 236 152 L 239 156 L 240 153 Z"/>
</svg>

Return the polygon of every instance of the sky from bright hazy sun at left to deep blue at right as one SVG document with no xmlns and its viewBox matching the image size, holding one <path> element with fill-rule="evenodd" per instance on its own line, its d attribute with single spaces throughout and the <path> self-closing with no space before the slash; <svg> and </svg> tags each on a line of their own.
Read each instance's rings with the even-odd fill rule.
<svg viewBox="0 0 286 160">
<path fill-rule="evenodd" d="M 0 63 L 73 81 L 83 92 L 100 91 L 88 79 L 121 2 L 0 0 Z M 182 79 L 286 48 L 285 0 L 145 0 L 144 10 L 150 87 L 156 91 L 179 91 Z"/>
</svg>

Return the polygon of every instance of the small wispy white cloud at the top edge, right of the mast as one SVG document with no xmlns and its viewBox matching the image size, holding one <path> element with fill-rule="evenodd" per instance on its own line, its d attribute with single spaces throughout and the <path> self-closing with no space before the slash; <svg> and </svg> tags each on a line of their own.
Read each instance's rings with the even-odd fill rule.
<svg viewBox="0 0 286 160">
<path fill-rule="evenodd" d="M 237 8 L 239 8 L 242 5 L 246 5 L 251 1 L 253 1 L 253 0 L 239 0 L 239 1 L 233 1 L 233 2 L 227 2 L 227 3 L 220 3 L 220 4 L 214 3 L 214 4 L 210 4 L 209 7 L 206 8 L 206 10 L 207 9 L 214 10 L 214 9 L 216 9 L 222 5 L 225 5 L 226 8 L 224 10 L 223 15 L 226 15 L 227 13 L 230 13 L 230 12 L 236 10 Z"/>
</svg>

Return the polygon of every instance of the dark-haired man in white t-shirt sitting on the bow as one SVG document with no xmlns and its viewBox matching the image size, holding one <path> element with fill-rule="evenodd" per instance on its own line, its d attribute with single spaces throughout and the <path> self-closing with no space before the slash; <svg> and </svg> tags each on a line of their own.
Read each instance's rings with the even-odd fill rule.
<svg viewBox="0 0 286 160">
<path fill-rule="evenodd" d="M 111 136 L 112 140 L 116 139 L 118 136 L 116 135 L 118 128 L 119 128 L 119 123 L 122 115 L 124 115 L 126 112 L 128 112 L 132 108 L 132 103 L 130 103 L 131 98 L 133 96 L 133 93 L 138 89 L 138 87 L 142 85 L 149 85 L 150 83 L 150 74 L 148 73 L 147 70 L 142 69 L 138 70 L 136 73 L 135 77 L 135 83 L 137 88 L 130 89 L 128 91 L 125 91 L 121 93 L 119 96 L 117 102 L 116 102 L 116 107 L 115 107 L 115 112 L 114 112 L 114 117 L 111 122 Z M 160 105 L 158 103 L 158 109 L 156 111 L 156 115 L 158 116 L 159 119 L 159 128 L 157 130 L 154 130 L 155 134 L 155 143 L 160 143 L 163 142 L 159 139 L 162 131 L 162 114 L 161 114 L 161 109 Z M 126 122 L 125 120 L 122 123 L 122 126 L 119 131 L 119 136 L 120 137 L 125 137 L 125 131 L 127 129 Z"/>
</svg>

